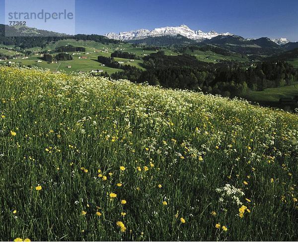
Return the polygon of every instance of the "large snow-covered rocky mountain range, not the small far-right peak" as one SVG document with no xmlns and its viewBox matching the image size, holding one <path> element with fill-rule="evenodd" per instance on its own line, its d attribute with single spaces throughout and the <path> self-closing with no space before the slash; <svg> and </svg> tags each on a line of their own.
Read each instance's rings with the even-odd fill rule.
<svg viewBox="0 0 298 242">
<path fill-rule="evenodd" d="M 230 33 L 217 33 L 215 31 L 203 32 L 201 30 L 194 31 L 186 25 L 180 25 L 178 27 L 163 27 L 155 28 L 153 30 L 139 29 L 129 32 L 120 32 L 118 35 L 115 33 L 108 33 L 105 36 L 110 39 L 129 41 L 129 40 L 141 40 L 147 37 L 160 37 L 160 36 L 176 36 L 182 35 L 191 40 L 202 41 L 205 39 L 212 39 L 219 35 L 232 35 Z"/>
</svg>

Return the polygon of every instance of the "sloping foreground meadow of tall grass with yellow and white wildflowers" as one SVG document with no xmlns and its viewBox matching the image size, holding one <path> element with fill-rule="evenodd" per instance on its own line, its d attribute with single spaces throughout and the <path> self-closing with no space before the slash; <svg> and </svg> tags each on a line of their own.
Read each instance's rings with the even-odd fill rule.
<svg viewBox="0 0 298 242">
<path fill-rule="evenodd" d="M 0 240 L 298 240 L 298 115 L 27 68 L 0 82 Z"/>
</svg>

